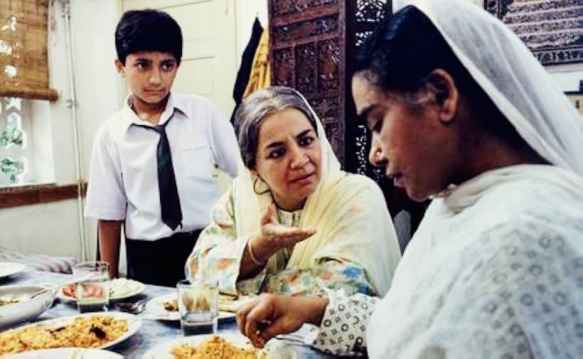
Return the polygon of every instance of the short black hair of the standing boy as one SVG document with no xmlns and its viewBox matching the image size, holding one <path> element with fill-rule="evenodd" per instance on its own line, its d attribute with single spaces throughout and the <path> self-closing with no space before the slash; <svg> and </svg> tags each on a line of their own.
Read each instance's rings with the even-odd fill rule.
<svg viewBox="0 0 583 359">
<path fill-rule="evenodd" d="M 172 53 L 180 64 L 182 31 L 178 23 L 164 11 L 126 11 L 115 28 L 115 49 L 117 58 L 124 65 L 127 55 L 139 51 Z"/>
</svg>

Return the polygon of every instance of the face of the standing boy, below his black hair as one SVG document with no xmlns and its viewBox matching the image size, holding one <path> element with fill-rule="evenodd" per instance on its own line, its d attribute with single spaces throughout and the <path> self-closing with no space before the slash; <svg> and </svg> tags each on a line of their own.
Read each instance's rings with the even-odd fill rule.
<svg viewBox="0 0 583 359">
<path fill-rule="evenodd" d="M 127 79 L 135 102 L 139 105 L 158 105 L 166 100 L 178 70 L 172 53 L 139 51 L 127 55 L 125 65 L 115 60 L 117 72 Z"/>
</svg>

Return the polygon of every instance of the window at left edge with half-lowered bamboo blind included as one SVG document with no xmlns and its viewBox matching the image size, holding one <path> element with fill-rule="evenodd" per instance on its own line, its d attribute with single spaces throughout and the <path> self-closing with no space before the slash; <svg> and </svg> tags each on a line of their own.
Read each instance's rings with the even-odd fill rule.
<svg viewBox="0 0 583 359">
<path fill-rule="evenodd" d="M 48 0 L 0 0 L 0 188 L 54 178 L 47 43 Z"/>
</svg>

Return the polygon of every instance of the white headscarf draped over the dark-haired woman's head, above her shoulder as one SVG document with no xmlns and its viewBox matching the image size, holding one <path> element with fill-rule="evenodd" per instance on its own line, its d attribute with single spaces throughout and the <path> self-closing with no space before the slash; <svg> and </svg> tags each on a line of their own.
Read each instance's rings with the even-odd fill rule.
<svg viewBox="0 0 583 359">
<path fill-rule="evenodd" d="M 581 115 L 508 26 L 469 0 L 396 0 L 394 5 L 395 11 L 413 5 L 432 21 L 478 85 L 542 158 L 583 175 Z"/>
</svg>

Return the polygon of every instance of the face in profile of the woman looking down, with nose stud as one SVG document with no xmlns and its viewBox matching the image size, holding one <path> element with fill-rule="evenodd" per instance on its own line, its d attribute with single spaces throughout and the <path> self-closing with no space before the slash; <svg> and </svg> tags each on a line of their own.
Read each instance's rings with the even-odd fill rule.
<svg viewBox="0 0 583 359">
<path fill-rule="evenodd" d="M 437 119 L 434 105 L 412 109 L 355 75 L 356 110 L 373 134 L 369 161 L 405 188 L 412 200 L 425 200 L 451 183 L 459 157 L 455 132 Z"/>
</svg>

